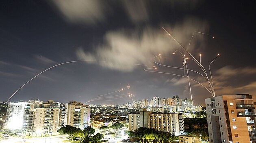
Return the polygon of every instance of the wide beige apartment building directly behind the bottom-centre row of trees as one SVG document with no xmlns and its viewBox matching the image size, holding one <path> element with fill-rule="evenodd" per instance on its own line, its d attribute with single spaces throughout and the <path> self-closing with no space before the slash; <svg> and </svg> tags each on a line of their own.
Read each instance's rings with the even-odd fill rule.
<svg viewBox="0 0 256 143">
<path fill-rule="evenodd" d="M 154 128 L 171 132 L 173 135 L 184 133 L 184 121 L 179 113 L 152 113 L 141 109 L 139 114 L 129 114 L 129 130 L 139 127 Z"/>
</svg>

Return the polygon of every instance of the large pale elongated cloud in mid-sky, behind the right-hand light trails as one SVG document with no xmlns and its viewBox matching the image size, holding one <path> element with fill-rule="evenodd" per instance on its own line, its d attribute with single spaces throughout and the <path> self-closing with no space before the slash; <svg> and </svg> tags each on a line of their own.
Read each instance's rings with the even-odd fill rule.
<svg viewBox="0 0 256 143">
<path fill-rule="evenodd" d="M 197 19 L 187 19 L 174 26 L 165 26 L 180 43 L 187 45 L 193 31 L 200 29 L 207 31 L 207 23 Z M 197 47 L 204 46 L 205 36 L 197 36 L 193 43 Z M 193 49 L 191 44 L 187 49 Z M 102 66 L 121 71 L 132 71 L 138 65 L 152 65 L 152 58 L 159 53 L 173 53 L 180 46 L 159 26 L 158 28 L 145 27 L 142 30 L 121 29 L 109 31 L 104 36 L 103 44 L 98 44 L 93 53 L 84 52 L 80 48 L 76 55 L 82 60 L 97 59 L 106 61 Z"/>
</svg>

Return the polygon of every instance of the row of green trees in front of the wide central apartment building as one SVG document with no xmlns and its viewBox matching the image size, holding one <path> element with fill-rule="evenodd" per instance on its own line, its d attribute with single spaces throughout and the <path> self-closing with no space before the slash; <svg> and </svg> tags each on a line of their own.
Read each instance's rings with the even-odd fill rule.
<svg viewBox="0 0 256 143">
<path fill-rule="evenodd" d="M 128 135 L 139 139 L 140 143 L 153 143 L 153 141 L 157 141 L 158 143 L 172 143 L 174 140 L 178 139 L 177 136 L 172 135 L 170 132 L 162 132 L 146 127 L 140 127 L 135 131 L 129 131 Z"/>
</svg>

